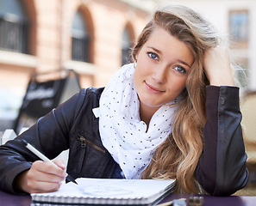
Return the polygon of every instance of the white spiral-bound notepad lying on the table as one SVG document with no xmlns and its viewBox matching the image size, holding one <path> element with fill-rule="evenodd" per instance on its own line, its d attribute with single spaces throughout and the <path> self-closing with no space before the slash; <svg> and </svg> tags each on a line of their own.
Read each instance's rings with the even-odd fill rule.
<svg viewBox="0 0 256 206">
<path fill-rule="evenodd" d="M 174 179 L 76 179 L 59 191 L 31 194 L 33 203 L 154 205 L 170 194 Z"/>
</svg>

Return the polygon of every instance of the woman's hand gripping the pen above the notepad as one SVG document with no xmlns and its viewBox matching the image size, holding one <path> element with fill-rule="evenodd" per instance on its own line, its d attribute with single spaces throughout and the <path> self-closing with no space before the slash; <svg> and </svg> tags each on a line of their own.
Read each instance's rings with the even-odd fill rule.
<svg viewBox="0 0 256 206">
<path fill-rule="evenodd" d="M 53 163 L 58 167 L 46 161 L 34 161 L 32 167 L 16 179 L 17 189 L 28 193 L 57 191 L 66 179 L 66 167 L 61 159 Z"/>
</svg>

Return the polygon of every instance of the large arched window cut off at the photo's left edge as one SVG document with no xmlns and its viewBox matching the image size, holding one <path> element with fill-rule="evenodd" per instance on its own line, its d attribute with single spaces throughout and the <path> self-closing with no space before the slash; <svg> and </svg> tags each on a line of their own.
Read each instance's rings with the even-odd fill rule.
<svg viewBox="0 0 256 206">
<path fill-rule="evenodd" d="M 0 1 L 0 49 L 28 53 L 28 18 L 21 1 Z"/>
</svg>

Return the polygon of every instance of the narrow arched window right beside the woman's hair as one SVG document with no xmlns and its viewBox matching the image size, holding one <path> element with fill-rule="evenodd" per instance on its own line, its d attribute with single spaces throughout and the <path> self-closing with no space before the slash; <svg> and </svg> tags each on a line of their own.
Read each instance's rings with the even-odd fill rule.
<svg viewBox="0 0 256 206">
<path fill-rule="evenodd" d="M 128 32 L 128 27 L 125 27 L 122 33 L 122 65 L 131 62 L 130 50 L 131 50 L 131 37 Z"/>
</svg>

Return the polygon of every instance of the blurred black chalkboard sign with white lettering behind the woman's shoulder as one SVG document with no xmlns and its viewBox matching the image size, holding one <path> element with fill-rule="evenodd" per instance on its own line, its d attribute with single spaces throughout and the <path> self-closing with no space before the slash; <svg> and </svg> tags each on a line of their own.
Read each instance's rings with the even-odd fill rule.
<svg viewBox="0 0 256 206">
<path fill-rule="evenodd" d="M 68 100 L 81 89 L 78 74 L 66 70 L 66 76 L 55 80 L 38 82 L 33 77 L 28 83 L 27 92 L 23 98 L 18 118 L 16 133 L 23 127 L 30 127 L 38 118 L 51 112 L 53 108 Z"/>
</svg>

